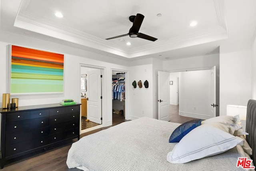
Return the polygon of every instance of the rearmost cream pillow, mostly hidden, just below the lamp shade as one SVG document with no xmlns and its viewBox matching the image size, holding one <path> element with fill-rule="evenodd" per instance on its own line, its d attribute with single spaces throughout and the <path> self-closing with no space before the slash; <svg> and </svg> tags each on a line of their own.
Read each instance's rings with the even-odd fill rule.
<svg viewBox="0 0 256 171">
<path fill-rule="evenodd" d="M 223 123 L 235 123 L 237 124 L 239 121 L 239 115 L 235 115 L 235 116 L 217 116 L 217 117 L 212 117 L 210 119 L 206 119 L 204 121 L 202 121 L 202 125 L 206 124 L 206 123 L 213 123 L 213 122 L 223 122 Z"/>
</svg>

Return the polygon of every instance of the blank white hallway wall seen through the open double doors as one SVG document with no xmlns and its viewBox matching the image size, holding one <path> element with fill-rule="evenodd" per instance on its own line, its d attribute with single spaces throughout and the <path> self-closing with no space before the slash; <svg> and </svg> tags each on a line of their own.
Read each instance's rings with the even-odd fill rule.
<svg viewBox="0 0 256 171">
<path fill-rule="evenodd" d="M 180 72 L 180 115 L 209 119 L 211 70 Z"/>
</svg>

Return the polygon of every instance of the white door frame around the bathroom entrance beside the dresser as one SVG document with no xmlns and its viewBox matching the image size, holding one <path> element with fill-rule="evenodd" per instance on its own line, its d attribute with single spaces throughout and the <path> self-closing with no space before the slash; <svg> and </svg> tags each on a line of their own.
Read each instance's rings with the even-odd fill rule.
<svg viewBox="0 0 256 171">
<path fill-rule="evenodd" d="M 81 130 L 81 124 L 80 124 L 80 134 L 82 133 L 86 133 L 88 131 L 92 131 L 94 129 L 98 129 L 98 128 L 101 128 L 101 127 L 105 127 L 106 126 L 106 122 L 107 122 L 107 98 L 104 98 L 104 97 L 107 97 L 107 87 L 105 86 L 106 84 L 106 68 L 105 67 L 101 67 L 101 66 L 93 66 L 93 65 L 88 65 L 88 64 L 84 64 L 84 63 L 80 63 L 79 64 L 79 78 L 78 80 L 81 80 L 80 77 L 81 77 L 81 67 L 86 67 L 86 68 L 92 68 L 92 69 L 100 69 L 102 70 L 102 89 L 101 89 L 101 92 L 102 92 L 102 103 L 101 103 L 101 107 L 102 107 L 102 124 L 101 125 L 98 125 L 98 126 L 95 126 L 95 127 L 92 127 L 92 128 L 89 128 L 89 129 L 84 129 L 84 130 Z M 79 84 L 79 88 L 78 88 L 78 95 L 79 95 L 79 103 L 81 103 L 81 82 Z M 80 123 L 81 123 L 81 110 L 80 110 Z"/>
</svg>

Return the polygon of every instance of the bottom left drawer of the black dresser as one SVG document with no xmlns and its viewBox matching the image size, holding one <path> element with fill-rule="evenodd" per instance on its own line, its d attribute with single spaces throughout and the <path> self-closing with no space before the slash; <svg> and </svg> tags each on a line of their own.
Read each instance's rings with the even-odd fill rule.
<svg viewBox="0 0 256 171">
<path fill-rule="evenodd" d="M 21 143 L 16 143 L 12 145 L 6 145 L 5 155 L 6 157 L 12 156 L 30 149 L 42 147 L 49 143 L 48 137 L 42 137 L 37 139 L 32 139 L 30 141 L 23 141 Z"/>
</svg>

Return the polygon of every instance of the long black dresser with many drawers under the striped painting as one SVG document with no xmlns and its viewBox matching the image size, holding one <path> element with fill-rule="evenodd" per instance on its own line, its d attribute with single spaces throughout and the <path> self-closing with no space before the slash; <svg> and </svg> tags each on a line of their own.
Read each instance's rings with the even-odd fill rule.
<svg viewBox="0 0 256 171">
<path fill-rule="evenodd" d="M 1 169 L 6 160 L 80 137 L 80 103 L 0 109 Z"/>
</svg>

